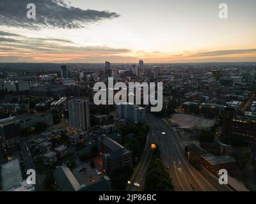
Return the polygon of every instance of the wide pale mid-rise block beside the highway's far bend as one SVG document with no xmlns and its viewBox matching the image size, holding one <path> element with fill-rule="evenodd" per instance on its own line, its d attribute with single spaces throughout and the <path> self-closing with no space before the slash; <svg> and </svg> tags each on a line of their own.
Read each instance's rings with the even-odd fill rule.
<svg viewBox="0 0 256 204">
<path fill-rule="evenodd" d="M 131 122 L 145 122 L 146 109 L 132 103 L 121 103 L 117 105 L 118 117 Z"/>
</svg>

